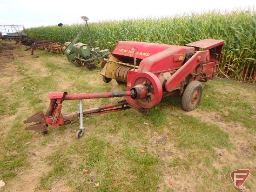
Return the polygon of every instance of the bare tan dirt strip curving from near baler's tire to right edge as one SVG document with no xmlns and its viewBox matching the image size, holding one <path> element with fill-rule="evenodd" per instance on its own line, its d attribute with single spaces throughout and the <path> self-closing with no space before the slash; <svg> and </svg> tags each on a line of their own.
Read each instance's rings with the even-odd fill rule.
<svg viewBox="0 0 256 192">
<path fill-rule="evenodd" d="M 229 134 L 231 142 L 235 146 L 235 150 L 227 150 L 222 148 L 214 148 L 216 150 L 218 162 L 222 164 L 215 163 L 216 167 L 224 171 L 224 165 L 231 165 L 236 167 L 238 164 L 243 165 L 246 159 L 246 164 L 244 166 L 256 168 L 255 162 L 252 161 L 255 149 L 253 146 L 255 143 L 255 136 L 246 132 L 246 128 L 238 122 L 226 122 L 221 118 L 221 116 L 215 112 L 203 113 L 199 109 L 186 112 L 188 115 L 192 115 L 207 122 L 208 124 L 214 124 L 219 126 L 224 132 Z"/>
</svg>

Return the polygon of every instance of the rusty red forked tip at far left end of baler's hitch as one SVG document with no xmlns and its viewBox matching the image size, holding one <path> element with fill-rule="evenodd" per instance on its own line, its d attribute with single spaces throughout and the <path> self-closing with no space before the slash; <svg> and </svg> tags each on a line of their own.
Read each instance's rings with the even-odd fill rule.
<svg viewBox="0 0 256 192">
<path fill-rule="evenodd" d="M 45 121 L 44 113 L 42 111 L 35 113 L 30 118 L 23 121 L 23 123 L 34 123 L 34 122 L 38 122 L 38 123 L 35 123 L 30 126 L 26 126 L 25 130 L 26 131 L 34 130 L 34 131 L 43 131 L 43 132 L 47 131 L 47 124 Z"/>
</svg>

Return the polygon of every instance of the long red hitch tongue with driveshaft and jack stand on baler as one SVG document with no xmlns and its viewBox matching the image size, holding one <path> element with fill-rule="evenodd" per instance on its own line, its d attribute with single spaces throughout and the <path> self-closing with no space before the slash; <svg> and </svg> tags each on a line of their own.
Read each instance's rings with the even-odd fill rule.
<svg viewBox="0 0 256 192">
<path fill-rule="evenodd" d="M 143 89 L 144 92 L 141 93 Z M 98 99 L 98 98 L 111 98 L 111 97 L 124 97 L 129 96 L 131 98 L 141 98 L 145 97 L 147 91 L 146 87 L 141 87 L 141 85 L 135 86 L 131 89 L 131 91 L 125 92 L 107 92 L 107 93 L 80 93 L 80 94 L 71 94 L 68 95 L 67 92 L 57 92 L 57 93 L 49 93 L 50 104 L 48 106 L 47 112 L 44 115 L 42 111 L 35 113 L 33 116 L 24 120 L 24 123 L 33 123 L 37 122 L 33 125 L 26 126 L 25 130 L 35 130 L 42 131 L 43 133 L 47 133 L 47 126 L 51 124 L 53 127 L 55 126 L 63 126 L 67 124 L 74 124 L 78 120 L 80 120 L 80 127 L 78 128 L 75 137 L 78 139 L 84 133 L 83 126 L 83 117 L 103 114 L 103 113 L 112 113 L 118 112 L 126 109 L 130 109 L 128 106 L 126 99 L 119 101 L 115 104 L 95 107 L 87 110 L 83 110 L 82 99 Z M 142 95 L 142 96 L 141 96 Z M 80 104 L 78 105 L 79 110 L 73 113 L 61 113 L 62 102 L 64 100 L 75 100 L 79 99 Z M 138 109 L 139 110 L 139 109 Z M 140 110 L 139 110 L 140 111 Z M 147 113 L 146 110 L 141 110 L 141 113 Z M 73 120 L 71 120 L 73 119 Z"/>
</svg>

